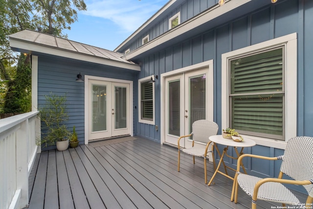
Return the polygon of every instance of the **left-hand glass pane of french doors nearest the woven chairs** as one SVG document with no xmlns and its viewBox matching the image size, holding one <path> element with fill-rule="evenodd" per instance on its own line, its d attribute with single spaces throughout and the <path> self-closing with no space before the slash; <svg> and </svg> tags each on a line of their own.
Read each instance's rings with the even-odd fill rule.
<svg viewBox="0 0 313 209">
<path fill-rule="evenodd" d="M 169 83 L 169 134 L 180 135 L 180 81 Z"/>
</svg>

